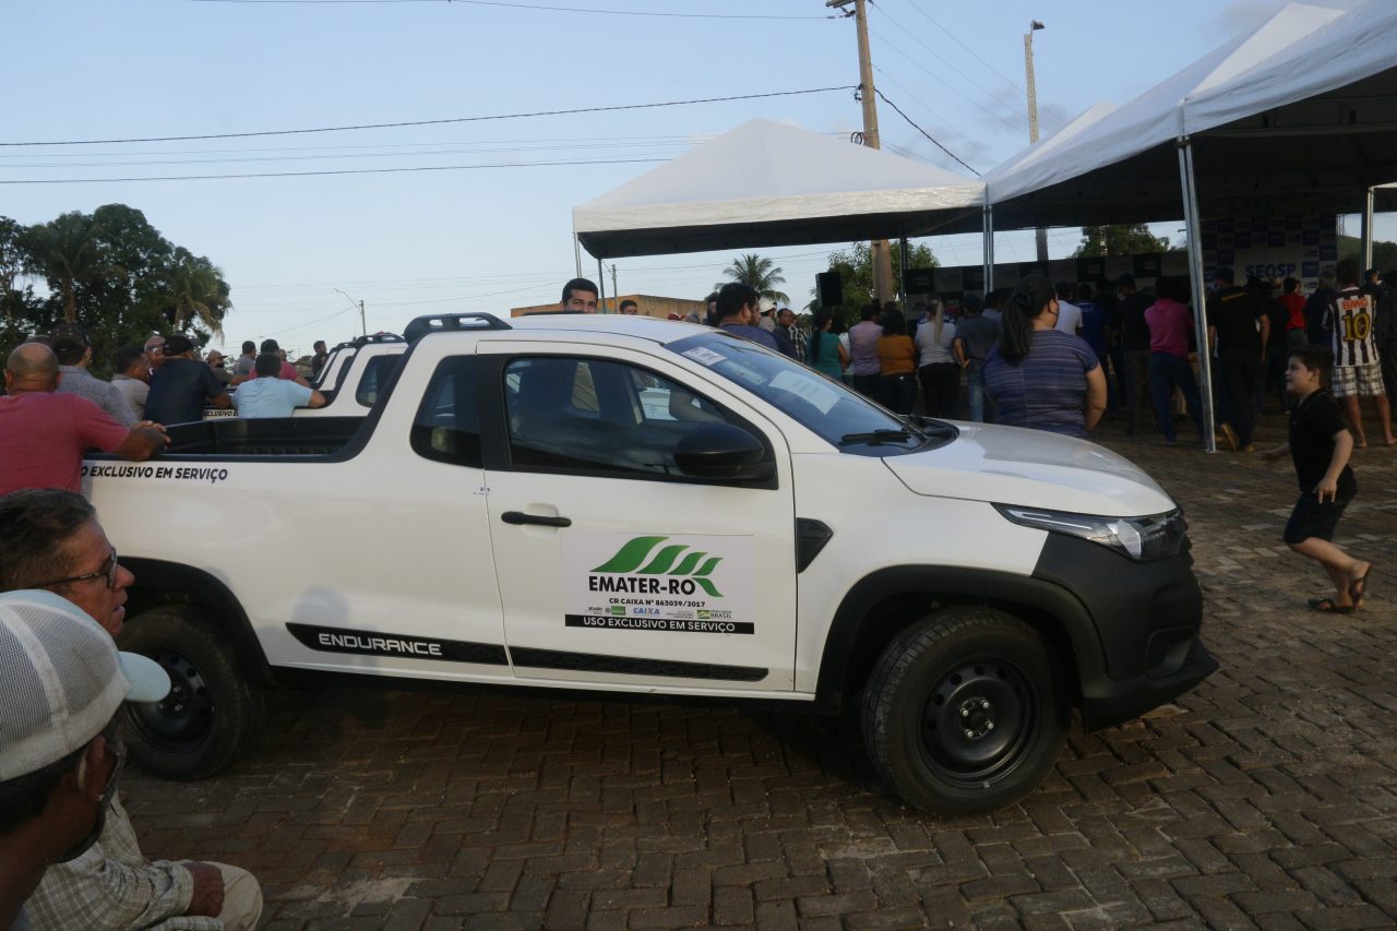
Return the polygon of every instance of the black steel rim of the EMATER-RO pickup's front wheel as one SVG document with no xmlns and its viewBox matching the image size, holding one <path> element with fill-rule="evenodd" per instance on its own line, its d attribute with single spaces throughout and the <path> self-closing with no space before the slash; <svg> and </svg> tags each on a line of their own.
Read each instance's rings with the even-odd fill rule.
<svg viewBox="0 0 1397 931">
<path fill-rule="evenodd" d="M 950 783 L 1002 780 L 1027 756 L 1041 707 L 1032 679 L 1014 663 L 960 661 L 933 681 L 922 703 L 922 759 Z"/>
</svg>

